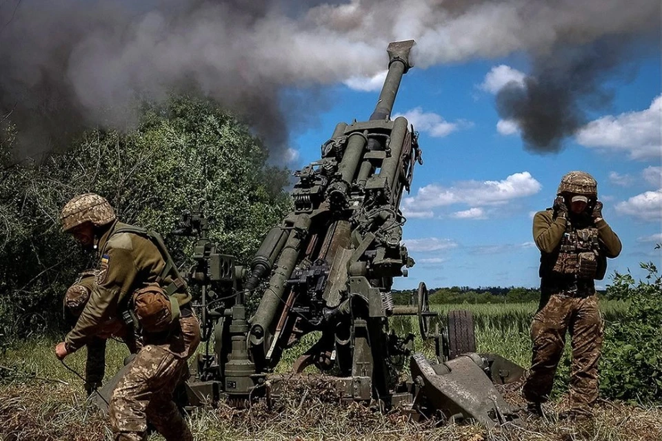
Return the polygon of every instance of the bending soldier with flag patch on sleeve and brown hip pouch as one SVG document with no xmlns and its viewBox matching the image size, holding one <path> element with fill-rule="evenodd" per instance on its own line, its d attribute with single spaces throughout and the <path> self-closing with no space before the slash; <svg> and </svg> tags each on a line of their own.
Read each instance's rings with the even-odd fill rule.
<svg viewBox="0 0 662 441">
<path fill-rule="evenodd" d="M 172 393 L 200 342 L 190 294 L 161 237 L 120 223 L 105 198 L 82 194 L 60 220 L 85 247 L 96 249 L 98 273 L 72 331 L 55 347 L 58 358 L 106 331 L 109 320 L 137 322 L 143 347 L 112 392 L 109 414 L 117 441 L 142 440 L 149 420 L 166 440 L 192 440 Z"/>
</svg>

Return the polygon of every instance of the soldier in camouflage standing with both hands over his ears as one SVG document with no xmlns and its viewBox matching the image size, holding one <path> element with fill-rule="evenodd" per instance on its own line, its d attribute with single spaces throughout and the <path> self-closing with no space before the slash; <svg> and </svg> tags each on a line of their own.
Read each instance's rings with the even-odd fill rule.
<svg viewBox="0 0 662 441">
<path fill-rule="evenodd" d="M 598 360 L 603 322 L 594 280 L 607 271 L 607 258 L 621 252 L 621 240 L 602 217 L 597 183 L 585 172 L 561 179 L 554 206 L 537 212 L 533 238 L 540 249 L 541 299 L 531 325 L 533 356 L 523 386 L 529 409 L 541 413 L 570 332 L 570 415 L 590 415 L 598 397 Z"/>
</svg>

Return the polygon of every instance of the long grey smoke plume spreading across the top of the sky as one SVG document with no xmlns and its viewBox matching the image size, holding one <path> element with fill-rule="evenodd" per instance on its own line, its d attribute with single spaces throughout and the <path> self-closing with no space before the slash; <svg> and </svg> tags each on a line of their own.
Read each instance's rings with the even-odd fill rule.
<svg viewBox="0 0 662 441">
<path fill-rule="evenodd" d="M 34 154 L 91 125 L 130 127 L 139 101 L 188 92 L 282 149 L 317 105 L 283 91 L 372 76 L 388 41 L 417 40 L 421 68 L 512 52 L 545 59 L 650 32 L 659 17 L 659 0 L 0 0 L 0 119 L 10 114 L 21 154 Z"/>
</svg>

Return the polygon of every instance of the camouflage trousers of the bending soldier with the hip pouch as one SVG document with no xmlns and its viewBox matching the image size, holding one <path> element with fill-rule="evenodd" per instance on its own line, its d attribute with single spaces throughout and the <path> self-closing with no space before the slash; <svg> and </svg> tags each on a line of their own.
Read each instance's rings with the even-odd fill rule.
<svg viewBox="0 0 662 441">
<path fill-rule="evenodd" d="M 195 316 L 179 319 L 174 344 L 146 344 L 112 391 L 108 413 L 116 441 L 141 441 L 148 421 L 168 441 L 192 441 L 172 394 L 200 342 Z"/>
</svg>

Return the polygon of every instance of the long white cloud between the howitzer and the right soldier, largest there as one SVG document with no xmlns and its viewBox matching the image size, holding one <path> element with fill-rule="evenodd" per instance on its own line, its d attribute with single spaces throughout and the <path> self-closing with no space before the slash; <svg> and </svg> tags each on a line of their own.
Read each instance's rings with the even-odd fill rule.
<svg viewBox="0 0 662 441">
<path fill-rule="evenodd" d="M 536 194 L 541 185 L 529 172 L 511 174 L 501 181 L 462 181 L 452 187 L 437 184 L 419 188 L 416 196 L 405 198 L 404 207 L 423 211 L 433 207 L 465 203 L 470 206 L 507 203 Z"/>
</svg>

